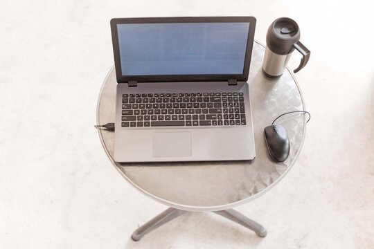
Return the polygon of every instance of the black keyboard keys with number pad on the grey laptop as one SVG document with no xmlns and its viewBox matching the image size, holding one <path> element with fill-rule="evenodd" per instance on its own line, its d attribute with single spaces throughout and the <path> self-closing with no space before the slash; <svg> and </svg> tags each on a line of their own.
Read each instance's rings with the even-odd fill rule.
<svg viewBox="0 0 374 249">
<path fill-rule="evenodd" d="M 137 93 L 122 95 L 121 127 L 245 125 L 243 93 Z"/>
</svg>

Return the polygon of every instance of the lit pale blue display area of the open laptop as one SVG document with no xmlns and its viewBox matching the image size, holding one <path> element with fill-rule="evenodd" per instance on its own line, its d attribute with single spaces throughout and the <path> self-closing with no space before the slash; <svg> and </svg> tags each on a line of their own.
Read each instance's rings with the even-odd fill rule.
<svg viewBox="0 0 374 249">
<path fill-rule="evenodd" d="M 116 24 L 122 75 L 240 75 L 249 22 Z"/>
</svg>

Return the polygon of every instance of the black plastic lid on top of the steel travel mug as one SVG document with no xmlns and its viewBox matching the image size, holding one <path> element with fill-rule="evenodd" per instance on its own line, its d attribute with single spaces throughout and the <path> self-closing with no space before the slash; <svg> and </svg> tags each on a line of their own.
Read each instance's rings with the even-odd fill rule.
<svg viewBox="0 0 374 249">
<path fill-rule="evenodd" d="M 266 45 L 278 55 L 287 55 L 294 50 L 293 45 L 300 39 L 300 29 L 296 21 L 281 17 L 273 21 L 266 35 Z"/>
</svg>

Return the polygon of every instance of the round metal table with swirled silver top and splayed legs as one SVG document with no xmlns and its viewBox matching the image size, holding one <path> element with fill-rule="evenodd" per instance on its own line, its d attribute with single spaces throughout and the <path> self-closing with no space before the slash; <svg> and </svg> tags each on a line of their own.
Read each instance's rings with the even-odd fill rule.
<svg viewBox="0 0 374 249">
<path fill-rule="evenodd" d="M 99 129 L 99 137 L 113 165 L 136 189 L 150 198 L 170 206 L 168 210 L 134 232 L 139 240 L 145 233 L 186 211 L 213 211 L 226 216 L 259 236 L 262 226 L 231 208 L 242 205 L 267 192 L 294 165 L 305 138 L 306 117 L 291 113 L 276 120 L 287 131 L 290 156 L 276 163 L 269 156 L 264 128 L 282 113 L 304 111 L 305 104 L 294 75 L 287 69 L 278 79 L 262 73 L 265 47 L 254 42 L 249 70 L 249 95 L 253 118 L 256 158 L 248 161 L 117 163 L 113 159 L 114 132 Z M 97 123 L 114 122 L 116 109 L 116 72 L 114 67 L 103 82 L 98 97 Z M 161 222 L 163 221 L 163 222 Z M 249 223 L 249 225 L 248 225 Z M 143 228 L 143 229 L 142 229 Z"/>
</svg>

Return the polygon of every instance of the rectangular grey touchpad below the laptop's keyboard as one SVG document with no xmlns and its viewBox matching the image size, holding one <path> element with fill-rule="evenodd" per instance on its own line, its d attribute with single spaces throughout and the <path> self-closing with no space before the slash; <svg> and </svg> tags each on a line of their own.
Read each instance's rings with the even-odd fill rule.
<svg viewBox="0 0 374 249">
<path fill-rule="evenodd" d="M 191 133 L 154 132 L 153 156 L 191 156 Z"/>
</svg>

